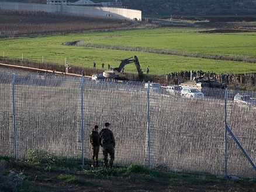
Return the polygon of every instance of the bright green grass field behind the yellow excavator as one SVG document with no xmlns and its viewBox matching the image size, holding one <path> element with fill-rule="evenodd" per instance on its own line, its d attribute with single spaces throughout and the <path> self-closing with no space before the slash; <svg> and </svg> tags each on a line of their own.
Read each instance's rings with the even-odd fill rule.
<svg viewBox="0 0 256 192">
<path fill-rule="evenodd" d="M 202 30 L 202 29 L 201 29 Z M 82 40 L 92 47 L 63 45 L 67 41 Z M 120 51 L 104 48 L 122 47 L 138 51 Z M 97 48 L 97 47 L 103 48 Z M 247 62 L 221 61 L 188 56 L 164 55 L 146 52 L 148 49 L 178 52 L 179 55 L 202 54 L 217 56 L 241 56 L 256 59 L 256 33 L 198 33 L 196 29 L 141 29 L 50 35 L 39 37 L 3 38 L 0 40 L 0 56 L 23 58 L 33 61 L 54 62 L 64 65 L 101 68 L 119 66 L 120 60 L 138 56 L 141 68 L 149 66 L 151 74 L 166 74 L 181 70 L 203 70 L 215 73 L 256 73 L 256 64 Z M 134 65 L 127 65 L 126 72 L 136 72 Z"/>
</svg>

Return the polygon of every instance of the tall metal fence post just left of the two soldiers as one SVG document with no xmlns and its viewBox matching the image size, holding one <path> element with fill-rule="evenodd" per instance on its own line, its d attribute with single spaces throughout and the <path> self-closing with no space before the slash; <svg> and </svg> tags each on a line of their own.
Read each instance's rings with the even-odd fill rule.
<svg viewBox="0 0 256 192">
<path fill-rule="evenodd" d="M 82 166 L 84 166 L 84 82 L 85 82 L 85 77 L 82 77 L 82 83 L 81 83 L 81 140 L 82 140 Z"/>
</svg>

